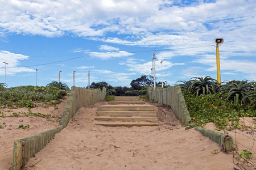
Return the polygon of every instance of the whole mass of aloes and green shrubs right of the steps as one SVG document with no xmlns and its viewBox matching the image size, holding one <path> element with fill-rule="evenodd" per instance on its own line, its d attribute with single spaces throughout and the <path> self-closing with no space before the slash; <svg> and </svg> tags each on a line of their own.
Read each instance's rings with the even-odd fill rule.
<svg viewBox="0 0 256 170">
<path fill-rule="evenodd" d="M 209 76 L 178 82 L 181 82 L 179 85 L 193 126 L 203 127 L 208 122 L 214 122 L 217 130 L 242 129 L 246 127 L 239 117 L 256 116 L 254 82 L 233 80 L 221 85 Z"/>
</svg>

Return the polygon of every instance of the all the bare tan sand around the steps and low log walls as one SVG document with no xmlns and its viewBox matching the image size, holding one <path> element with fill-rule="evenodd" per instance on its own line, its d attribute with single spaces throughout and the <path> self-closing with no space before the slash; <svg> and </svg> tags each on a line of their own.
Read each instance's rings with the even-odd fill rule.
<svg viewBox="0 0 256 170">
<path fill-rule="evenodd" d="M 160 126 L 125 128 L 93 124 L 97 106 L 103 104 L 107 103 L 99 102 L 89 108 L 80 108 L 67 127 L 28 161 L 27 169 L 239 169 L 233 163 L 232 152 L 221 152 L 220 145 L 195 129 L 185 130 L 170 107 L 154 104 L 158 107 Z M 59 107 L 56 114 L 61 112 L 63 108 Z M 7 122 L 6 118 L 0 120 L 1 125 L 3 120 Z M 16 139 L 58 125 L 58 122 L 46 121 L 46 118 L 22 117 L 22 120 L 23 124 L 29 122 L 31 128 L 16 129 L 20 117 L 10 117 L 8 124 L 15 128 L 0 129 L 0 169 L 11 167 Z M 254 121 L 247 123 L 254 124 Z M 214 124 L 207 124 L 205 128 L 215 129 Z M 233 136 L 232 131 L 229 133 Z M 246 137 L 246 131 L 239 133 L 242 135 L 237 131 L 236 140 L 242 145 L 238 144 L 238 151 L 250 147 L 255 154 L 256 148 L 250 143 L 253 140 L 248 138 L 255 135 Z M 218 153 L 212 154 L 214 150 Z M 252 160 L 255 163 L 255 159 Z"/>
</svg>

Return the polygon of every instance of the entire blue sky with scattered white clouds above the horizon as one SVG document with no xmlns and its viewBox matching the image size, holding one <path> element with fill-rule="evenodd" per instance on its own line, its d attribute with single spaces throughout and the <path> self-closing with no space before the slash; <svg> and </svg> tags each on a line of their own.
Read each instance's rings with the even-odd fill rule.
<svg viewBox="0 0 256 170">
<path fill-rule="evenodd" d="M 46 86 L 52 80 L 130 87 L 150 75 L 174 84 L 193 76 L 256 80 L 256 1 L 0 1 L 0 82 Z"/>
</svg>

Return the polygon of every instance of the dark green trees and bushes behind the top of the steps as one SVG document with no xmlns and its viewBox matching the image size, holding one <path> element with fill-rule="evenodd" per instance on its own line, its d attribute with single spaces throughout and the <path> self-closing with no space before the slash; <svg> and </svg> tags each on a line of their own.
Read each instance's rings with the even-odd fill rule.
<svg viewBox="0 0 256 170">
<path fill-rule="evenodd" d="M 163 82 L 163 84 L 164 87 L 168 86 L 166 85 L 167 82 Z M 106 87 L 107 94 L 111 96 L 143 96 L 147 95 L 147 87 L 151 86 L 151 76 L 142 75 L 141 78 L 132 80 L 130 85 L 131 87 L 113 87 L 106 82 L 93 82 L 90 84 L 90 88 L 100 88 L 102 90 L 103 87 Z M 156 83 L 156 86 L 162 87 L 162 82 Z M 88 86 L 86 88 L 88 88 Z"/>
</svg>

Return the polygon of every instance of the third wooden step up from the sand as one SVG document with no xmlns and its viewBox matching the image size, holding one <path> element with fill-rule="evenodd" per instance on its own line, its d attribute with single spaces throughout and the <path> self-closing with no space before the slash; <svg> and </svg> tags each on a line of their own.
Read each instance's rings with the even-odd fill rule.
<svg viewBox="0 0 256 170">
<path fill-rule="evenodd" d="M 154 116 L 156 111 L 97 111 L 96 116 Z"/>
</svg>

